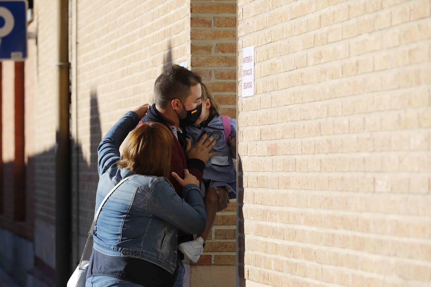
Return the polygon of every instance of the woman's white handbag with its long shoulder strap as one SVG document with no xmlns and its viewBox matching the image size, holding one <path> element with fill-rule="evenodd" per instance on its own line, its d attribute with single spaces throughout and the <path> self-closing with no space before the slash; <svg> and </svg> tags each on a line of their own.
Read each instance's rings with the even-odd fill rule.
<svg viewBox="0 0 431 287">
<path fill-rule="evenodd" d="M 91 236 L 93 236 L 94 226 L 96 225 L 97 217 L 99 217 L 100 210 L 102 210 L 103 204 L 105 204 L 105 201 L 109 198 L 109 196 L 114 192 L 117 187 L 119 187 L 123 182 L 125 182 L 127 179 L 129 179 L 131 176 L 128 176 L 122 181 L 120 181 L 114 188 L 109 191 L 108 194 L 106 194 L 105 198 L 103 199 L 102 203 L 99 206 L 99 209 L 97 210 L 96 214 L 94 215 L 93 223 L 91 224 L 90 231 L 88 232 L 87 242 L 84 246 L 84 252 L 82 253 L 81 260 L 79 261 L 78 267 L 76 267 L 75 271 L 73 272 L 72 276 L 70 276 L 69 281 L 67 281 L 67 287 L 85 287 L 85 280 L 87 280 L 87 268 L 88 268 L 88 262 L 87 260 L 84 260 L 85 252 L 87 251 L 88 242 L 90 241 Z"/>
</svg>

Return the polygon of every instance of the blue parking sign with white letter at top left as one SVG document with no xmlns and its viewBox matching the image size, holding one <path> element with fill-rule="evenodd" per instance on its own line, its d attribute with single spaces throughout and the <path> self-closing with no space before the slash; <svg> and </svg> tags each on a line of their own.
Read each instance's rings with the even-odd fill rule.
<svg viewBox="0 0 431 287">
<path fill-rule="evenodd" d="M 0 60 L 27 58 L 27 1 L 0 0 Z"/>
</svg>

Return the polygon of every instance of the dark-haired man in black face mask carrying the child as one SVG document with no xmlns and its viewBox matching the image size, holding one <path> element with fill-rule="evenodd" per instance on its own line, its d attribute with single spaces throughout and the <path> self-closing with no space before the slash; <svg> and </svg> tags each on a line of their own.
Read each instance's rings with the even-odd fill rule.
<svg viewBox="0 0 431 287">
<path fill-rule="evenodd" d="M 207 138 L 206 135 L 203 135 L 200 141 L 191 148 L 191 142 L 184 129 L 185 126 L 195 123 L 202 111 L 201 83 L 202 79 L 196 73 L 179 65 L 169 66 L 157 77 L 154 83 L 156 104 L 151 105 L 147 115 L 141 121 L 163 123 L 172 131 L 175 138 L 172 142 L 171 173 L 175 172 L 184 178 L 184 169 L 187 168 L 199 182 L 202 180 L 205 163 L 210 157 L 217 154 L 216 151 L 209 153 L 216 143 L 212 136 Z M 178 182 L 172 176 L 169 176 L 169 181 L 177 193 L 181 194 Z M 225 191 L 218 195 L 219 210 L 225 209 L 229 203 L 228 193 Z M 190 240 L 193 240 L 191 235 L 178 233 L 178 244 Z M 184 258 L 179 251 L 178 256 L 181 259 Z M 179 264 L 175 287 L 183 286 L 184 281 L 184 266 L 181 261 Z"/>
</svg>

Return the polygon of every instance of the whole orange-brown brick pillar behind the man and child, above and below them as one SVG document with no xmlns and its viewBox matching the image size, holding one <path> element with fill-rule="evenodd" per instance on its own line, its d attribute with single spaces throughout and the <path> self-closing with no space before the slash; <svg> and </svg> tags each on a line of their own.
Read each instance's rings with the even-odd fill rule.
<svg viewBox="0 0 431 287">
<path fill-rule="evenodd" d="M 233 118 L 236 118 L 236 25 L 236 1 L 191 1 L 190 68 L 200 74 L 222 114 Z M 218 213 L 204 253 L 191 266 L 191 286 L 235 285 L 235 219 L 236 200 L 231 200 L 228 208 Z M 203 266 L 211 264 L 218 266 Z"/>
</svg>

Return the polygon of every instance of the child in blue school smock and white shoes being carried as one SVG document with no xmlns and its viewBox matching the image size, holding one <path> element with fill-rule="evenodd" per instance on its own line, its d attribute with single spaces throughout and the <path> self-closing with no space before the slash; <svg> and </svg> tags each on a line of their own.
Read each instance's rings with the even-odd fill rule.
<svg viewBox="0 0 431 287">
<path fill-rule="evenodd" d="M 215 215 L 220 211 L 217 210 L 219 204 L 217 194 L 227 191 L 229 198 L 236 198 L 236 170 L 232 159 L 236 155 L 231 154 L 229 145 L 236 145 L 237 122 L 230 117 L 221 116 L 219 106 L 206 86 L 201 84 L 201 87 L 202 113 L 194 126 L 186 127 L 187 136 L 191 144 L 195 145 L 203 134 L 212 135 L 217 141 L 214 150 L 218 153 L 206 162 L 200 186 L 207 213 L 205 231 L 197 235 L 194 241 L 178 245 L 178 249 L 193 262 L 199 260 L 205 241 L 214 225 Z"/>
</svg>

